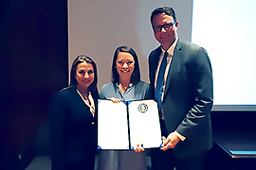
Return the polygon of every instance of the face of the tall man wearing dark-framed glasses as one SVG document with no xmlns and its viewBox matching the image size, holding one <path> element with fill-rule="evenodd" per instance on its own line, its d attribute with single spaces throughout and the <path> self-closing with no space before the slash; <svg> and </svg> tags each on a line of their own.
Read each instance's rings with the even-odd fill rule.
<svg viewBox="0 0 256 170">
<path fill-rule="evenodd" d="M 155 39 L 167 50 L 177 37 L 178 22 L 174 23 L 173 16 L 159 13 L 153 19 Z"/>
</svg>

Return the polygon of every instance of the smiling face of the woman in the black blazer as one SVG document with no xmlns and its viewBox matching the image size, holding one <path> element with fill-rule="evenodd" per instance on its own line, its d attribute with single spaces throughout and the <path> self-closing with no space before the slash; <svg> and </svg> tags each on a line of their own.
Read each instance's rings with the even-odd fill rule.
<svg viewBox="0 0 256 170">
<path fill-rule="evenodd" d="M 87 89 L 94 81 L 94 69 L 91 63 L 81 62 L 76 70 L 77 88 Z"/>
</svg>

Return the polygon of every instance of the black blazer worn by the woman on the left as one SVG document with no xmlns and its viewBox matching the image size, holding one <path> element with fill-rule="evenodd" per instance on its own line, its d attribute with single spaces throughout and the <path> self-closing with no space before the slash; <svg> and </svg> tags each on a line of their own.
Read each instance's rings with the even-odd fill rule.
<svg viewBox="0 0 256 170">
<path fill-rule="evenodd" d="M 92 95 L 97 109 L 97 94 Z M 93 170 L 97 125 L 92 122 L 96 117 L 92 117 L 76 87 L 67 87 L 53 97 L 49 116 L 52 170 Z"/>
</svg>

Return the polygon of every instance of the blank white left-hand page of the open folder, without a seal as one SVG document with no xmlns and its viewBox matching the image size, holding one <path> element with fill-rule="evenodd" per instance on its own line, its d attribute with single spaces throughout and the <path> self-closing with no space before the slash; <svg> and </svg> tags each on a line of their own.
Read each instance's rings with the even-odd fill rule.
<svg viewBox="0 0 256 170">
<path fill-rule="evenodd" d="M 125 103 L 99 100 L 98 148 L 129 149 L 127 106 Z"/>
</svg>

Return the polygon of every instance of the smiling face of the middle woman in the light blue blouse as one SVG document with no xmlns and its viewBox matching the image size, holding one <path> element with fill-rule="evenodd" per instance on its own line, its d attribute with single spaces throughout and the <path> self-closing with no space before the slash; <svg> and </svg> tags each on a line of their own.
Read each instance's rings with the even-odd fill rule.
<svg viewBox="0 0 256 170">
<path fill-rule="evenodd" d="M 126 52 L 119 52 L 118 59 L 116 61 L 117 71 L 119 76 L 132 76 L 134 72 L 135 59 Z"/>
</svg>

